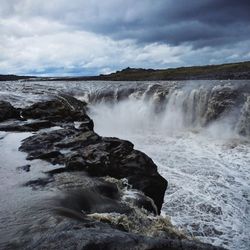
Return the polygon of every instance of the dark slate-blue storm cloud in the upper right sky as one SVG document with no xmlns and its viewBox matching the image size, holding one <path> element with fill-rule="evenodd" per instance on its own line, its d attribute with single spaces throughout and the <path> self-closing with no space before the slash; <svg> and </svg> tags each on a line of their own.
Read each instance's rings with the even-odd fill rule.
<svg viewBox="0 0 250 250">
<path fill-rule="evenodd" d="M 139 1 L 140 2 L 140 1 Z M 122 5 L 124 14 L 100 18 L 85 29 L 116 39 L 163 42 L 172 45 L 217 46 L 250 38 L 249 0 L 144 1 L 137 6 Z M 130 8 L 133 8 L 131 10 Z M 118 11 L 119 12 L 119 11 Z M 138 13 L 138 16 L 131 14 Z"/>
</svg>

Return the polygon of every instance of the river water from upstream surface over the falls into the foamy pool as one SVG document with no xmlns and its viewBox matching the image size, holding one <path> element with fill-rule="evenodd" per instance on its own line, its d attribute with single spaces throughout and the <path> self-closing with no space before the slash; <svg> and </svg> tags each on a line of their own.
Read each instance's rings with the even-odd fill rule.
<svg viewBox="0 0 250 250">
<path fill-rule="evenodd" d="M 228 98 L 245 91 L 245 86 L 250 82 L 16 82 L 5 83 L 1 97 L 16 106 L 58 93 L 89 102 L 97 133 L 130 140 L 168 180 L 162 214 L 201 241 L 246 250 L 250 247 L 248 90 L 245 102 L 230 103 L 226 115 L 217 118 L 214 112 L 214 93 L 228 93 Z M 0 178 L 1 182 L 6 178 L 3 171 Z"/>
</svg>

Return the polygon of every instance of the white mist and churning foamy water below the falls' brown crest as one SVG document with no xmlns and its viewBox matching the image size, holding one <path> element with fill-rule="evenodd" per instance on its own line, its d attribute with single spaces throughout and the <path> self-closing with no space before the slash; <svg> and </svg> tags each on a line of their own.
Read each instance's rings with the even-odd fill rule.
<svg viewBox="0 0 250 250">
<path fill-rule="evenodd" d="M 163 214 L 190 236 L 229 249 L 250 247 L 250 145 L 227 119 L 206 129 L 187 126 L 176 102 L 156 114 L 151 102 L 130 98 L 96 104 L 90 116 L 104 136 L 128 139 L 168 180 Z"/>
</svg>

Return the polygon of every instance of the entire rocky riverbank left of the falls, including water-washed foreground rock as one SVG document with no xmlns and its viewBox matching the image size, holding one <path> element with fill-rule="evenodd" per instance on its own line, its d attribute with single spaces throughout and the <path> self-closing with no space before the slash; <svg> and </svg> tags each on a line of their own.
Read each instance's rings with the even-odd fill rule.
<svg viewBox="0 0 250 250">
<path fill-rule="evenodd" d="M 57 195 L 49 213 L 19 232 L 7 249 L 220 249 L 188 239 L 159 216 L 167 181 L 129 141 L 94 132 L 87 105 L 61 95 L 15 108 L 0 102 L 0 130 L 33 132 L 22 141 L 52 170 L 24 185 Z"/>
</svg>

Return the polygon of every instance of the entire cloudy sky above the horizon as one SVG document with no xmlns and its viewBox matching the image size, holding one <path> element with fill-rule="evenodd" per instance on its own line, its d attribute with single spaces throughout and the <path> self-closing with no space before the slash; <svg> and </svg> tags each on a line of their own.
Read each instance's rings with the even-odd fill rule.
<svg viewBox="0 0 250 250">
<path fill-rule="evenodd" d="M 0 0 L 0 74 L 250 60 L 250 0 Z"/>
</svg>

